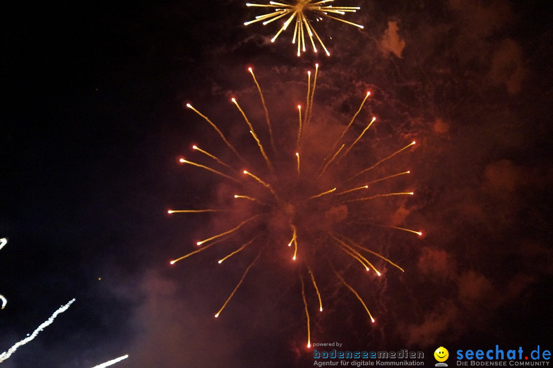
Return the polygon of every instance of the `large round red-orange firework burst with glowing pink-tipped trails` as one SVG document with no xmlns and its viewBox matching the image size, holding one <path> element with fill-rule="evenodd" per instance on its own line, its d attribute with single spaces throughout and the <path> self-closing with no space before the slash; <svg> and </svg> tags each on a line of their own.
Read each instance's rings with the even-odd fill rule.
<svg viewBox="0 0 553 368">
<path fill-rule="evenodd" d="M 208 212 L 215 215 L 229 215 L 225 221 L 229 225 L 224 231 L 196 242 L 196 245 L 200 246 L 200 248 L 170 261 L 171 265 L 196 253 L 205 251 L 221 242 L 231 242 L 233 237 L 241 239 L 239 246 L 232 252 L 226 252 L 224 257 L 221 255 L 218 263 L 227 261 L 228 258 L 240 253 L 241 256 L 243 255 L 243 257 L 249 259 L 249 265 L 244 269 L 236 287 L 217 311 L 215 317 L 219 317 L 223 309 L 227 307 L 234 294 L 237 293 L 239 287 L 246 279 L 247 274 L 255 268 L 256 263 L 264 252 L 270 250 L 272 252 L 270 256 L 273 258 L 289 252 L 289 259 L 295 263 L 295 267 L 299 272 L 301 297 L 305 307 L 307 322 L 307 348 L 311 346 L 309 300 L 314 299 L 313 293 L 315 293 L 319 312 L 322 312 L 322 304 L 325 300 L 324 293 L 321 293 L 321 289 L 317 286 L 316 276 L 319 276 L 320 279 L 325 279 L 327 282 L 331 279 L 335 283 L 342 284 L 358 299 L 366 311 L 368 318 L 374 323 L 375 319 L 370 312 L 370 305 L 367 305 L 362 294 L 356 291 L 351 282 L 346 280 L 345 270 L 353 262 L 355 267 L 359 264 L 366 272 L 372 271 L 369 274 L 376 277 L 382 276 L 382 272 L 378 268 L 387 267 L 387 264 L 399 269 L 401 272 L 404 271 L 396 263 L 364 246 L 362 242 L 349 239 L 349 237 L 344 235 L 351 233 L 347 228 L 349 223 L 356 222 L 357 224 L 362 224 L 364 229 L 367 227 L 372 229 L 380 227 L 382 229 L 399 230 L 419 236 L 422 235 L 420 231 L 410 230 L 406 227 L 399 227 L 393 224 L 368 223 L 364 219 L 356 218 L 344 221 L 350 207 L 356 209 L 357 213 L 364 213 L 368 204 L 374 200 L 389 201 L 401 196 L 414 195 L 413 191 L 379 193 L 377 189 L 372 188 L 373 185 L 385 180 L 392 181 L 404 177 L 404 175 L 410 173 L 409 170 L 396 171 L 387 175 L 377 175 L 377 177 L 374 177 L 375 175 L 372 174 L 372 171 L 379 165 L 387 162 L 387 160 L 413 146 L 415 142 L 391 154 L 389 152 L 382 154 L 384 158 L 374 159 L 373 162 L 376 161 L 374 164 L 362 170 L 359 170 L 358 165 L 349 164 L 350 159 L 359 156 L 358 152 L 361 152 L 363 157 L 366 156 L 366 153 L 363 151 L 364 141 L 362 139 L 376 121 L 376 118 L 372 117 L 363 126 L 361 132 L 352 137 L 350 130 L 356 128 L 353 123 L 359 113 L 361 113 L 363 105 L 370 95 L 370 92 L 367 92 L 364 99 L 362 99 L 361 106 L 353 115 L 351 121 L 349 121 L 344 129 L 341 129 L 342 133 L 336 142 L 333 145 L 328 144 L 328 147 L 331 147 L 330 151 L 326 149 L 322 154 L 321 152 L 318 154 L 314 153 L 314 147 L 317 144 L 310 145 L 310 139 L 313 136 L 312 134 L 306 134 L 309 133 L 306 131 L 306 127 L 314 124 L 312 122 L 313 98 L 317 82 L 318 65 L 316 67 L 315 76 L 312 80 L 311 72 L 308 72 L 307 75 L 306 106 L 304 109 L 298 106 L 298 115 L 296 115 L 298 125 L 294 127 L 293 134 L 289 133 L 290 129 L 286 129 L 288 134 L 282 134 L 282 137 L 276 134 L 278 129 L 270 125 L 268 109 L 265 105 L 265 99 L 259 82 L 255 79 L 253 70 L 249 68 L 249 72 L 253 76 L 262 99 L 267 120 L 267 127 L 256 126 L 256 130 L 254 131 L 254 126 L 247 117 L 246 112 L 238 105 L 236 98 L 232 99 L 232 102 L 236 105 L 247 124 L 247 130 L 251 132 L 251 138 L 253 138 L 250 143 L 254 149 L 253 151 L 250 149 L 248 152 L 249 154 L 257 154 L 258 156 L 255 159 L 244 154 L 245 157 L 251 158 L 249 163 L 228 141 L 225 134 L 215 123 L 190 104 L 187 105 L 208 122 L 226 146 L 231 149 L 232 153 L 229 153 L 230 156 L 227 154 L 226 159 L 231 160 L 236 157 L 236 162 L 223 162 L 223 160 L 213 154 L 198 149 L 197 146 L 193 147 L 194 150 L 215 160 L 218 165 L 217 169 L 204 164 L 192 163 L 185 159 L 180 159 L 180 162 L 182 164 L 190 164 L 197 169 L 206 170 L 215 174 L 218 178 L 222 178 L 228 185 L 237 190 L 239 194 L 235 194 L 234 199 L 242 201 L 240 202 L 242 205 L 247 205 L 247 210 L 244 212 L 243 207 L 241 207 L 241 210 L 238 210 L 236 201 L 228 201 L 227 203 L 230 203 L 230 205 L 227 204 L 222 206 L 222 208 L 168 211 L 169 214 Z M 325 134 L 326 132 L 323 133 Z M 265 149 L 263 139 L 260 137 L 265 137 L 264 139 L 271 142 L 267 146 L 271 149 Z M 286 144 L 279 144 L 281 142 L 285 142 L 288 146 Z M 294 151 L 290 151 L 289 149 L 290 142 L 295 142 Z M 237 147 L 241 148 L 242 151 L 244 143 Z M 344 149 L 345 147 L 347 148 Z M 320 151 L 320 147 L 318 149 Z M 300 157 L 302 158 L 301 160 Z M 319 161 L 315 160 L 317 157 Z M 365 162 L 365 159 L 362 162 Z M 248 167 L 253 166 L 253 168 L 251 171 L 248 169 L 242 170 L 242 172 L 234 169 L 242 164 Z M 373 177 L 370 176 L 371 174 Z M 341 220 L 336 220 L 333 218 L 336 217 L 336 212 L 345 213 L 346 215 L 342 216 Z M 282 241 L 282 231 L 268 231 L 269 224 L 284 224 L 284 231 L 289 231 L 289 235 L 286 235 L 286 241 L 289 240 L 289 248 L 282 247 L 282 245 L 286 245 Z M 293 248 L 292 245 L 294 245 Z M 370 258 L 373 258 L 373 260 Z M 328 272 L 329 270 L 332 272 Z M 330 274 L 330 277 L 328 274 Z M 306 283 L 305 280 L 308 282 Z M 312 284 L 312 288 L 310 284 Z M 310 297 L 311 295 L 313 296 L 312 298 Z"/>
</svg>

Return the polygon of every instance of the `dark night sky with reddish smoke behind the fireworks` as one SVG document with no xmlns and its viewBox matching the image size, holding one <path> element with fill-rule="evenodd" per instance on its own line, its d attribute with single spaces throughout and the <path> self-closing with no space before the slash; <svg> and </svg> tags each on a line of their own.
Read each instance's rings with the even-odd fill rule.
<svg viewBox="0 0 553 368">
<path fill-rule="evenodd" d="M 353 132 L 378 117 L 324 184 L 418 144 L 382 169 L 412 170 L 409 178 L 379 188 L 415 195 L 377 201 L 367 213 L 350 207 L 340 224 L 405 273 L 375 261 L 384 277 L 367 278 L 337 261 L 371 305 L 372 325 L 327 263 L 315 263 L 328 308 L 312 312 L 312 342 L 429 357 L 440 345 L 450 354 L 495 344 L 553 348 L 548 2 L 340 3 L 361 6 L 347 19 L 365 27 L 318 22 L 330 58 L 311 50 L 298 58 L 290 30 L 271 44 L 276 24 L 244 27 L 259 11 L 234 0 L 4 6 L 0 237 L 9 242 L 0 251 L 8 299 L 0 351 L 76 302 L 2 366 L 91 367 L 124 354 L 116 366 L 312 366 L 299 266 L 282 261 L 288 249 L 283 256 L 268 246 L 215 319 L 255 252 L 221 266 L 221 253 L 209 251 L 168 261 L 242 217 L 166 210 L 218 205 L 231 193 L 211 173 L 176 163 L 180 155 L 201 160 L 194 143 L 236 160 L 187 102 L 263 164 L 229 97 L 264 127 L 253 65 L 288 152 L 316 62 L 307 151 L 316 157 L 332 144 L 367 89 L 373 96 Z M 425 235 L 369 226 L 371 216 Z M 274 242 L 288 237 L 279 224 L 264 226 Z"/>
</svg>

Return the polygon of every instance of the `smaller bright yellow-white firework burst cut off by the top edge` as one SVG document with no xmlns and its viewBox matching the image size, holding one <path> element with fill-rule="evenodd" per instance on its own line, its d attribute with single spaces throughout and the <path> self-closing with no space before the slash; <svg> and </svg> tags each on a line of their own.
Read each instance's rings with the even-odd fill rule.
<svg viewBox="0 0 553 368">
<path fill-rule="evenodd" d="M 325 44 L 322 42 L 319 34 L 317 34 L 315 28 L 313 27 L 311 20 L 322 20 L 323 18 L 330 18 L 339 20 L 340 22 L 354 25 L 355 27 L 363 28 L 362 25 L 348 22 L 347 20 L 336 17 L 336 15 L 345 15 L 346 13 L 354 13 L 359 10 L 359 7 L 333 7 L 331 5 L 325 5 L 326 3 L 331 3 L 334 0 L 295 0 L 291 3 L 286 2 L 274 2 L 271 1 L 269 4 L 251 4 L 247 3 L 248 7 L 261 7 L 273 9 L 272 13 L 258 15 L 254 20 L 244 23 L 244 25 L 263 22 L 263 25 L 274 22 L 278 19 L 286 19 L 283 25 L 280 27 L 278 32 L 271 39 L 271 42 L 275 42 L 276 38 L 284 32 L 290 24 L 294 23 L 294 36 L 292 38 L 293 44 L 298 44 L 298 56 L 302 52 L 306 51 L 306 42 L 305 35 L 309 38 L 313 51 L 317 52 L 317 47 L 315 45 L 315 39 L 322 46 L 322 49 L 325 50 L 325 53 L 330 56 L 330 52 L 327 50 Z M 308 92 L 309 93 L 309 92 Z"/>
</svg>

